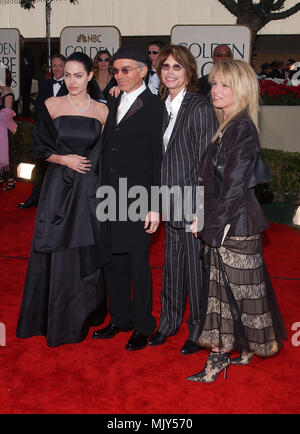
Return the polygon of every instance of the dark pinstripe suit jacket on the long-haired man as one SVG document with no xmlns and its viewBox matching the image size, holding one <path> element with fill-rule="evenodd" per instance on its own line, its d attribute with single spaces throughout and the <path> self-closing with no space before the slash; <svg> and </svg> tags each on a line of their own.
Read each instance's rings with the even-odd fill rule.
<svg viewBox="0 0 300 434">
<path fill-rule="evenodd" d="M 165 109 L 164 127 L 168 123 Z M 179 109 L 176 122 L 167 146 L 163 149 L 161 185 L 169 188 L 199 185 L 199 166 L 208 145 L 217 130 L 217 119 L 208 100 L 196 93 L 186 92 Z M 169 223 L 182 228 L 188 223 L 184 219 L 175 221 L 174 213 L 177 203 L 170 199 Z"/>
</svg>

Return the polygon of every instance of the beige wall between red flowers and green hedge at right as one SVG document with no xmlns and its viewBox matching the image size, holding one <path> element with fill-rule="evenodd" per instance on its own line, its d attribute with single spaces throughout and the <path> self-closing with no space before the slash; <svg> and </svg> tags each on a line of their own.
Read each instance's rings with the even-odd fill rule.
<svg viewBox="0 0 300 434">
<path fill-rule="evenodd" d="M 262 148 L 300 152 L 300 106 L 263 106 L 260 112 Z"/>
</svg>

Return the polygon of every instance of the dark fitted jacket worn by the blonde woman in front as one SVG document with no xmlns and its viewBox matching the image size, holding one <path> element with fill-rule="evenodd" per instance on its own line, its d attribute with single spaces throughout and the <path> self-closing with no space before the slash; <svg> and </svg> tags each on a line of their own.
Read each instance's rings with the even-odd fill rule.
<svg viewBox="0 0 300 434">
<path fill-rule="evenodd" d="M 220 143 L 216 141 L 209 147 L 200 167 L 205 211 L 201 236 L 207 244 L 219 247 L 227 224 L 231 225 L 229 236 L 255 235 L 268 227 L 254 188 L 248 188 L 259 150 L 256 127 L 244 114 L 230 123 Z M 213 161 L 217 154 L 217 164 L 224 169 L 216 197 Z"/>
</svg>

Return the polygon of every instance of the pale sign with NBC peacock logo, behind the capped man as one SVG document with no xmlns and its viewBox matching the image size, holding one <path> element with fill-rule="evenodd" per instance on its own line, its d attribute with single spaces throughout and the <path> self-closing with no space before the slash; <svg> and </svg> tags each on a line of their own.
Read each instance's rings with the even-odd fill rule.
<svg viewBox="0 0 300 434">
<path fill-rule="evenodd" d="M 80 51 L 94 59 L 98 51 L 108 50 L 113 55 L 120 47 L 121 34 L 115 26 L 65 27 L 60 34 L 60 52 L 68 57 Z"/>
</svg>

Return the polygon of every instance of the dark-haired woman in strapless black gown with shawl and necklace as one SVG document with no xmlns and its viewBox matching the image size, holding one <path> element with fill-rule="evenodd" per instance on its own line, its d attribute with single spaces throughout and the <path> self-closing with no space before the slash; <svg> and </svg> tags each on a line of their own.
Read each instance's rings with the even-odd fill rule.
<svg viewBox="0 0 300 434">
<path fill-rule="evenodd" d="M 82 341 L 106 315 L 101 267 L 108 261 L 96 219 L 101 132 L 108 109 L 87 93 L 92 62 L 73 53 L 69 94 L 46 100 L 32 154 L 51 163 L 41 191 L 17 336 L 49 346 Z"/>
</svg>

